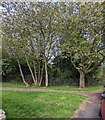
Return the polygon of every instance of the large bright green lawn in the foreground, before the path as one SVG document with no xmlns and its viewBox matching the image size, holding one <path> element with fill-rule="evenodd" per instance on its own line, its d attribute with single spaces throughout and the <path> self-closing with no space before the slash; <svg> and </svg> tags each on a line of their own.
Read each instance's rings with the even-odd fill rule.
<svg viewBox="0 0 105 120">
<path fill-rule="evenodd" d="M 7 118 L 70 118 L 86 98 L 68 93 L 2 92 Z"/>
</svg>

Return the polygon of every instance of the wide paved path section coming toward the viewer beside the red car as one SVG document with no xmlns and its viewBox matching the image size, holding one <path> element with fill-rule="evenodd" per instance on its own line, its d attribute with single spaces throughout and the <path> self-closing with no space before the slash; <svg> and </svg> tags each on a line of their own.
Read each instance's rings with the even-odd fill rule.
<svg viewBox="0 0 105 120">
<path fill-rule="evenodd" d="M 97 118 L 96 120 L 101 120 L 99 116 L 100 100 L 101 100 L 100 94 L 94 93 L 81 104 L 80 108 L 76 111 L 74 117 L 91 118 L 91 120 L 93 118 Z"/>
</svg>

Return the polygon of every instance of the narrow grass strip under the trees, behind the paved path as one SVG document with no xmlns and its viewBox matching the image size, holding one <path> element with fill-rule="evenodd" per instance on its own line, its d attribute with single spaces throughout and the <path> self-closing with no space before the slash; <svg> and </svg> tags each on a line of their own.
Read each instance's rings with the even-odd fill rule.
<svg viewBox="0 0 105 120">
<path fill-rule="evenodd" d="M 50 89 L 50 90 L 69 90 L 69 91 L 87 91 L 87 92 L 95 92 L 97 90 L 102 90 L 103 87 L 102 86 L 91 86 L 91 87 L 86 87 L 83 89 L 78 88 L 77 86 L 49 86 L 49 87 L 35 87 L 35 86 L 30 86 L 30 87 L 26 87 L 23 84 L 19 84 L 19 83 L 6 83 L 3 82 L 2 83 L 2 87 L 11 87 L 11 88 L 38 88 L 38 89 Z"/>
</svg>

